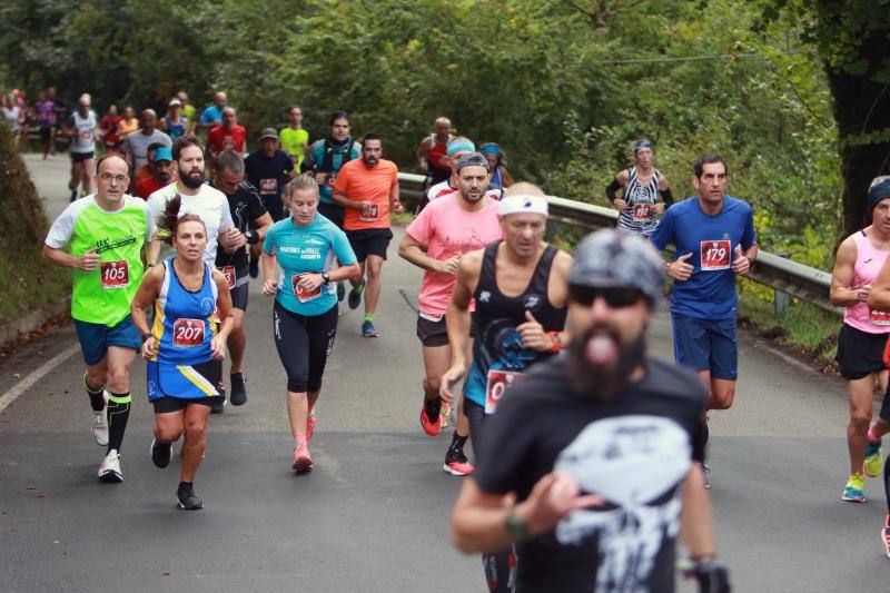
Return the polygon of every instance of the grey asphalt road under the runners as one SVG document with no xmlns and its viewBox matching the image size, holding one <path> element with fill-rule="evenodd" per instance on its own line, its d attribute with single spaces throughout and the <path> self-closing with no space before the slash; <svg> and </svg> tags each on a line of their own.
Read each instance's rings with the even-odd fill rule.
<svg viewBox="0 0 890 593">
<path fill-rule="evenodd" d="M 67 164 L 28 164 L 57 215 Z M 257 283 L 250 397 L 211 418 L 196 481 L 201 512 L 175 508 L 176 464 L 161 471 L 149 459 L 141 362 L 121 485 L 95 478 L 103 452 L 89 434 L 79 353 L 22 393 L 0 413 L 0 590 L 484 591 L 479 561 L 447 538 L 459 487 L 441 471 L 451 433 L 429 439 L 417 422 L 422 363 L 408 300 L 421 274 L 395 255 L 395 241 L 389 254 L 375 318 L 382 336 L 362 338 L 358 312 L 342 310 L 307 476 L 289 471 L 285 375 Z M 72 344 L 62 328 L 0 362 L 0 395 Z M 650 349 L 671 356 L 663 314 Z M 709 449 L 720 556 L 735 591 L 887 591 L 880 482 L 869 482 L 866 504 L 839 500 L 842 382 L 748 333 L 740 377 L 735 406 L 712 414 Z"/>
</svg>

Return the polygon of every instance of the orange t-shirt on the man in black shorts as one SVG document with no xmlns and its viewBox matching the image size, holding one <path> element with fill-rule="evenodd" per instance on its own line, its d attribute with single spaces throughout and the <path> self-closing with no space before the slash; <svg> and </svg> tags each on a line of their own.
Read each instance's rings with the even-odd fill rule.
<svg viewBox="0 0 890 593">
<path fill-rule="evenodd" d="M 350 200 L 369 201 L 373 206 L 367 209 L 345 208 L 343 228 L 389 228 L 389 192 L 397 182 L 398 167 L 392 160 L 380 159 L 373 168 L 360 158 L 344 165 L 334 181 L 334 191 L 346 194 Z"/>
</svg>

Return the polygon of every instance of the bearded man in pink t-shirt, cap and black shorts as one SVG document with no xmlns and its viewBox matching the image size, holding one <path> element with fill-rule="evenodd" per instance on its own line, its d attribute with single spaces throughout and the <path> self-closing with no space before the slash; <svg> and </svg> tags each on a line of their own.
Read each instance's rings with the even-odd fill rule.
<svg viewBox="0 0 890 593">
<path fill-rule="evenodd" d="M 457 280 L 461 256 L 482 249 L 502 236 L 500 204 L 487 197 L 491 180 L 488 161 L 478 152 L 461 157 L 453 168 L 457 191 L 433 200 L 408 226 L 398 246 L 398 255 L 425 270 L 417 298 L 417 337 L 423 344 L 424 405 L 421 425 L 429 436 L 442 429 L 442 375 L 451 367 L 445 312 Z M 471 307 L 473 310 L 473 307 Z M 457 426 L 445 455 L 443 470 L 452 475 L 467 475 L 473 466 L 464 455 L 469 423 L 458 406 Z"/>
</svg>

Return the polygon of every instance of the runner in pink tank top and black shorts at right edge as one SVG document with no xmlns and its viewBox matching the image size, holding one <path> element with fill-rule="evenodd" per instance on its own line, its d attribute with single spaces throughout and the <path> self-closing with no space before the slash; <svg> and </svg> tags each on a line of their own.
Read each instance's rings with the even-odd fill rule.
<svg viewBox="0 0 890 593">
<path fill-rule="evenodd" d="M 881 393 L 887 391 L 883 352 L 890 334 L 890 315 L 871 310 L 868 305 L 872 283 L 890 253 L 890 191 L 881 197 L 883 189 L 878 184 L 869 190 L 871 225 L 841 243 L 831 274 L 831 304 L 846 307 L 838 336 L 838 364 L 850 397 L 850 477 L 841 500 L 854 503 L 866 502 L 866 476 L 881 474 L 880 437 L 886 432 L 886 423 L 879 419 L 876 434 L 869 437 L 876 379 Z"/>
</svg>

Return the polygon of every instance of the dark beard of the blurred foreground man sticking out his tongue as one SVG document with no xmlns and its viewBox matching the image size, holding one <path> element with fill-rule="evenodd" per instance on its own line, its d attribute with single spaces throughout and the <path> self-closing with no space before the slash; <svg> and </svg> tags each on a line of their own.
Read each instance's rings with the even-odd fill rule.
<svg viewBox="0 0 890 593">
<path fill-rule="evenodd" d="M 595 363 L 590 356 L 590 340 L 610 339 L 617 354 L 607 363 Z M 602 342 L 599 342 L 603 345 Z M 599 348 L 597 348 L 599 349 Z M 644 334 L 627 343 L 609 326 L 593 326 L 580 336 L 573 336 L 568 345 L 568 378 L 575 392 L 585 398 L 610 399 L 630 384 L 631 373 L 643 364 L 645 356 Z"/>
</svg>

